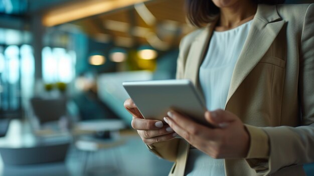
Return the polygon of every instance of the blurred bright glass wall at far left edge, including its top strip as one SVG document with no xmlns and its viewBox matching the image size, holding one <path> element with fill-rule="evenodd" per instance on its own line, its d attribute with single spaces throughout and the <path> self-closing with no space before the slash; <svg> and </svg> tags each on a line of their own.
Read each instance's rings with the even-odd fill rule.
<svg viewBox="0 0 314 176">
<path fill-rule="evenodd" d="M 0 112 L 21 116 L 23 104 L 32 96 L 34 54 L 31 33 L 0 29 Z"/>
</svg>

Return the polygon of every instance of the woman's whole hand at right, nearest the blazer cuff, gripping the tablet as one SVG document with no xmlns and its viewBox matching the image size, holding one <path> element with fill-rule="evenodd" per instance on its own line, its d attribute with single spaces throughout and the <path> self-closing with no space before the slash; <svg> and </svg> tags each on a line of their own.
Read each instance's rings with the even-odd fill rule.
<svg viewBox="0 0 314 176">
<path fill-rule="evenodd" d="M 216 128 L 194 122 L 190 117 L 170 111 L 164 120 L 191 145 L 213 158 L 244 158 L 249 134 L 236 115 L 224 110 L 205 112 L 205 119 Z"/>
</svg>

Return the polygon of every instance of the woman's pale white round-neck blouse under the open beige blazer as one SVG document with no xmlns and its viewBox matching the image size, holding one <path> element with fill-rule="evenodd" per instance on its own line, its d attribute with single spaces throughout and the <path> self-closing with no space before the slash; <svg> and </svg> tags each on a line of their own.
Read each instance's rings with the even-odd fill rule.
<svg viewBox="0 0 314 176">
<path fill-rule="evenodd" d="M 228 31 L 213 32 L 199 72 L 208 110 L 225 109 L 232 73 L 251 23 L 252 20 Z M 190 149 L 185 174 L 225 175 L 224 159 L 213 159 L 198 149 Z"/>
</svg>

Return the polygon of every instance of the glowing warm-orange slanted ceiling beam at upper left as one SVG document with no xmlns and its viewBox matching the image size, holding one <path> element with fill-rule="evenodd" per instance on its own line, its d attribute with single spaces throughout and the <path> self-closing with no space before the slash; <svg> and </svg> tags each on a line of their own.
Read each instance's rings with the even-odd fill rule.
<svg viewBox="0 0 314 176">
<path fill-rule="evenodd" d="M 89 0 L 73 2 L 47 12 L 43 16 L 43 24 L 47 27 L 52 27 L 149 1 L 153 0 Z"/>
</svg>

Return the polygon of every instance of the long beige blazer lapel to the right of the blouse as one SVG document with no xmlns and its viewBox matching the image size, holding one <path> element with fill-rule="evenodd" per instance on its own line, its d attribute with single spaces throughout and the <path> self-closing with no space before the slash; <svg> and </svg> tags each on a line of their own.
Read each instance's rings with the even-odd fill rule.
<svg viewBox="0 0 314 176">
<path fill-rule="evenodd" d="M 250 32 L 233 71 L 225 107 L 245 77 L 265 55 L 284 23 L 275 6 L 258 6 Z"/>
</svg>

